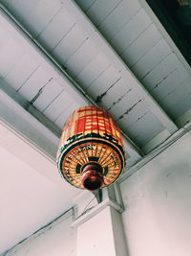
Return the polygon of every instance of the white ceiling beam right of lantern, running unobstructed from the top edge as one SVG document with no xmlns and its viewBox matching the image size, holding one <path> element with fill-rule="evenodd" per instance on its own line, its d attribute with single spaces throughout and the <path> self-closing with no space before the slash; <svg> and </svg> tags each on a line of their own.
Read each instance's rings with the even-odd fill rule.
<svg viewBox="0 0 191 256">
<path fill-rule="evenodd" d="M 175 131 L 177 131 L 178 128 L 174 122 L 148 93 L 140 81 L 138 81 L 137 77 L 128 68 L 126 63 L 117 55 L 117 52 L 108 43 L 105 37 L 100 34 L 96 26 L 92 23 L 88 16 L 81 11 L 74 0 L 62 0 L 61 2 L 64 4 L 64 7 L 67 9 L 67 11 L 74 16 L 81 27 L 86 30 L 90 37 L 96 42 L 96 45 L 99 47 L 99 49 L 106 55 L 108 59 L 110 59 L 112 63 L 114 63 L 114 65 L 120 71 L 122 77 L 132 84 L 140 99 L 142 99 L 145 105 L 147 105 L 147 107 L 156 115 L 163 127 L 166 128 L 170 134 L 173 134 Z"/>
</svg>

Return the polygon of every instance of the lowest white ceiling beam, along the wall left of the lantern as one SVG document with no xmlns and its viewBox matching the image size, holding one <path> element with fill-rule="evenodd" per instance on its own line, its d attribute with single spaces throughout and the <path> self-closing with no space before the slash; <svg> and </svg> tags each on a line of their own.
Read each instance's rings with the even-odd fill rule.
<svg viewBox="0 0 191 256">
<path fill-rule="evenodd" d="M 0 83 L 0 87 L 1 85 Z M 2 89 L 0 90 L 0 109 L 0 121 L 3 124 L 7 124 L 11 129 L 14 129 L 36 149 L 44 152 L 54 161 L 59 143 L 59 130 L 58 128 L 50 129 L 50 120 L 43 117 L 43 114 L 39 115 L 35 108 L 32 109 L 32 106 L 31 110 L 27 111 L 23 105 L 19 105 L 11 99 Z"/>
</svg>

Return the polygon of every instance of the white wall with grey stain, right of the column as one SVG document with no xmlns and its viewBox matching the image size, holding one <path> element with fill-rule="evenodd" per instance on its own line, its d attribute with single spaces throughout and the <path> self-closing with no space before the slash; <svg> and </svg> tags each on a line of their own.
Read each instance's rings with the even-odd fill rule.
<svg viewBox="0 0 191 256">
<path fill-rule="evenodd" d="M 191 136 L 121 183 L 129 256 L 191 255 Z"/>
</svg>

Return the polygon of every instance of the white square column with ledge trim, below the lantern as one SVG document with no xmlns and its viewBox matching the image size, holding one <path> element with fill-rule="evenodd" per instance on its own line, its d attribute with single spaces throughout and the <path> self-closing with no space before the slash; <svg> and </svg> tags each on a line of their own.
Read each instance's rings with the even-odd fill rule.
<svg viewBox="0 0 191 256">
<path fill-rule="evenodd" d="M 87 192 L 89 193 L 89 192 Z M 106 194 L 106 193 L 105 193 Z M 83 198 L 88 198 L 83 194 Z M 79 198 L 77 198 L 78 207 Z M 81 198 L 82 204 L 84 200 Z M 87 213 L 74 221 L 77 226 L 76 256 L 127 256 L 120 205 L 104 195 Z"/>
</svg>

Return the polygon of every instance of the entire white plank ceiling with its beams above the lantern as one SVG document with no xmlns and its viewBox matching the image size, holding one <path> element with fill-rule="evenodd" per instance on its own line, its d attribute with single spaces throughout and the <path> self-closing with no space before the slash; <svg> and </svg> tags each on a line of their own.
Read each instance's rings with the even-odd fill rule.
<svg viewBox="0 0 191 256">
<path fill-rule="evenodd" d="M 66 118 L 81 105 L 113 114 L 129 165 L 190 121 L 190 67 L 144 0 L 0 4 L 4 109 L 8 101 L 22 106 L 35 118 L 35 132 L 45 136 L 42 126 L 53 133 L 54 148 L 32 139 L 32 130 L 19 130 L 5 110 L 1 117 L 43 151 L 55 155 Z"/>
</svg>

